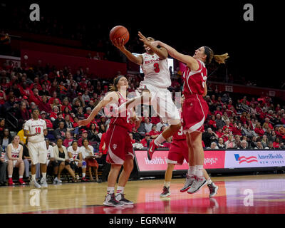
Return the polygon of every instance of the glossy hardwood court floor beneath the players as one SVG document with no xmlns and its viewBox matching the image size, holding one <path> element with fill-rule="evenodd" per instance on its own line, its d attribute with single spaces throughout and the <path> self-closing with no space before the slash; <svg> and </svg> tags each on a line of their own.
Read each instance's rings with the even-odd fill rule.
<svg viewBox="0 0 285 228">
<path fill-rule="evenodd" d="M 135 204 L 120 208 L 103 207 L 107 182 L 49 185 L 46 190 L 34 190 L 28 185 L 0 187 L 0 213 L 285 213 L 284 174 L 212 177 L 212 180 L 219 186 L 212 198 L 207 186 L 193 195 L 180 193 L 185 179 L 172 180 L 171 196 L 166 198 L 160 198 L 163 180 L 130 181 L 125 194 Z"/>
</svg>

